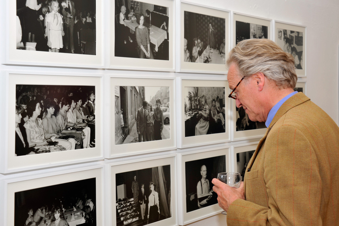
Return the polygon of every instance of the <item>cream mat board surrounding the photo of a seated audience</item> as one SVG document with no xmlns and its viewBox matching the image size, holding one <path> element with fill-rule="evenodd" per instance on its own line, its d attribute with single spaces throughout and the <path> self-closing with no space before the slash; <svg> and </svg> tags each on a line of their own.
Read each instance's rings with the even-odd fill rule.
<svg viewBox="0 0 339 226">
<path fill-rule="evenodd" d="M 23 75 L 23 74 L 9 74 L 8 75 L 8 153 L 5 153 L 6 170 L 20 170 L 27 167 L 41 168 L 44 165 L 61 165 L 66 162 L 84 162 L 95 158 L 102 158 L 102 143 L 101 143 L 101 129 L 102 129 L 102 89 L 101 77 L 87 77 L 87 76 L 58 76 L 58 75 Z M 83 149 L 64 150 L 48 153 L 40 153 L 37 155 L 23 155 L 15 156 L 16 138 L 15 121 L 16 121 L 16 92 L 17 88 L 22 87 L 31 88 L 51 88 L 54 91 L 56 86 L 61 90 L 68 91 L 69 88 L 74 87 L 73 84 L 78 84 L 77 88 L 95 91 L 95 124 L 91 126 L 95 128 L 95 147 Z M 52 88 L 53 87 L 53 88 Z M 33 89 L 34 92 L 35 89 Z M 76 90 L 74 91 L 74 93 Z M 52 95 L 52 93 L 51 93 Z M 67 95 L 67 94 L 66 94 Z M 65 96 L 66 96 L 65 95 Z M 32 95 L 33 96 L 33 95 Z M 57 95 L 58 96 L 58 95 Z M 55 97 L 57 97 L 55 96 Z M 54 96 L 53 96 L 54 98 Z M 21 98 L 22 99 L 22 98 Z M 38 97 L 43 99 L 43 97 Z M 44 100 L 46 102 L 46 100 Z M 56 106 L 55 106 L 56 107 Z M 42 132 L 44 133 L 44 132 Z M 91 135 L 88 133 L 88 135 Z M 31 136 L 32 137 L 32 136 Z M 93 138 L 92 138 L 93 139 Z M 18 140 L 19 141 L 19 140 Z"/>
</svg>

